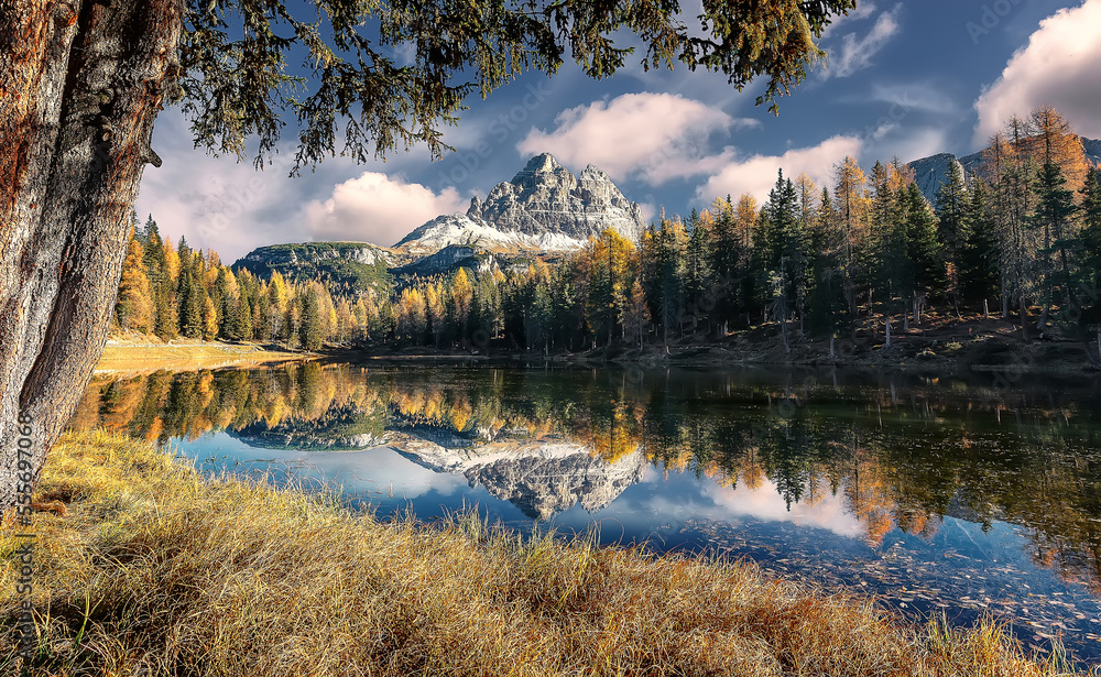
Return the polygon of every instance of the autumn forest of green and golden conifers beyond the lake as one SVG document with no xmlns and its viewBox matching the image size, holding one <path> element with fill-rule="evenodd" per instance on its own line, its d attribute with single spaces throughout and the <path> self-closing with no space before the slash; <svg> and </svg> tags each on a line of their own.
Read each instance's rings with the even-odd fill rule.
<svg viewBox="0 0 1101 677">
<path fill-rule="evenodd" d="M 815 337 L 832 353 L 835 338 L 868 327 L 890 347 L 892 330 L 937 307 L 1010 319 L 1023 338 L 1092 340 L 1101 174 L 1058 111 L 1009 120 L 977 175 L 953 163 L 933 205 L 897 159 L 865 171 L 844 157 L 831 183 L 781 171 L 763 205 L 727 196 L 663 212 L 637 243 L 607 230 L 557 261 L 499 253 L 389 294 L 235 272 L 184 238 L 174 245 L 151 216 L 133 230 L 115 320 L 162 339 L 548 354 L 667 348 L 771 323 L 785 350 Z"/>
</svg>

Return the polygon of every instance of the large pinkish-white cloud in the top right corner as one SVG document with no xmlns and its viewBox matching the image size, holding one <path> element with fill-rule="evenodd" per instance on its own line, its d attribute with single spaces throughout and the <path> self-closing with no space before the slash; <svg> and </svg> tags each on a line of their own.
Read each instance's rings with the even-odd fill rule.
<svg viewBox="0 0 1101 677">
<path fill-rule="evenodd" d="M 1040 22 L 1028 44 L 974 103 L 974 144 L 985 145 L 1012 116 L 1051 106 L 1084 137 L 1101 137 L 1101 0 L 1062 9 Z"/>
</svg>

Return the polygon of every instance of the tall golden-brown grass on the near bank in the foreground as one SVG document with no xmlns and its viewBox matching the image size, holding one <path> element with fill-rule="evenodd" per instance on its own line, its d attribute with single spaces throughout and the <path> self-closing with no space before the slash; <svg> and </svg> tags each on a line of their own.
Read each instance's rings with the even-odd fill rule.
<svg viewBox="0 0 1101 677">
<path fill-rule="evenodd" d="M 35 515 L 30 675 L 1056 675 L 1003 629 L 909 629 L 743 564 L 459 515 L 382 524 L 331 498 L 204 479 L 103 432 L 54 449 Z M 0 674 L 15 668 L 0 537 Z"/>
</svg>

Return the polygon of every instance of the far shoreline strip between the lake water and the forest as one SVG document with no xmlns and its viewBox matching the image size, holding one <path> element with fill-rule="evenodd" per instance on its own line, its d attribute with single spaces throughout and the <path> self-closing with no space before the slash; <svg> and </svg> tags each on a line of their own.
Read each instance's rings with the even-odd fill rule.
<svg viewBox="0 0 1101 677">
<path fill-rule="evenodd" d="M 930 316 L 922 327 L 892 331 L 885 346 L 882 326 L 873 318 L 858 328 L 854 337 L 829 341 L 800 337 L 789 328 L 792 341 L 785 349 L 778 323 L 764 323 L 723 337 L 697 332 L 669 341 L 668 347 L 652 342 L 642 349 L 617 343 L 576 351 L 544 354 L 490 341 L 480 348 L 438 349 L 426 346 L 395 346 L 393 342 L 327 345 L 316 352 L 288 351 L 273 345 L 226 343 L 176 339 L 167 343 L 145 336 L 115 336 L 108 340 L 96 374 L 148 373 L 157 369 L 193 371 L 224 367 L 247 367 L 266 362 L 314 360 L 393 362 L 545 362 L 550 364 L 687 368 L 844 368 L 912 372 L 1003 372 L 1013 374 L 1101 374 L 1101 354 L 1093 346 L 1050 330 L 1044 339 L 1022 339 L 1020 327 L 1003 319 L 971 316 L 966 319 Z"/>
</svg>

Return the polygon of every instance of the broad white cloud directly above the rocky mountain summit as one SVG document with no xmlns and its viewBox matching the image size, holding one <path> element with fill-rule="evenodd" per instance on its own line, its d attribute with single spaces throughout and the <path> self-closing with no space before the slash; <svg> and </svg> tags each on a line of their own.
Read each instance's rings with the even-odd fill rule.
<svg viewBox="0 0 1101 677">
<path fill-rule="evenodd" d="M 729 156 L 707 155 L 708 137 L 760 124 L 679 95 L 652 92 L 570 108 L 555 122 L 549 133 L 533 129 L 517 150 L 549 152 L 567 165 L 592 163 L 615 181 L 634 175 L 651 185 L 717 171 Z"/>
</svg>

